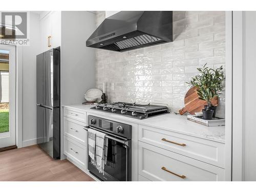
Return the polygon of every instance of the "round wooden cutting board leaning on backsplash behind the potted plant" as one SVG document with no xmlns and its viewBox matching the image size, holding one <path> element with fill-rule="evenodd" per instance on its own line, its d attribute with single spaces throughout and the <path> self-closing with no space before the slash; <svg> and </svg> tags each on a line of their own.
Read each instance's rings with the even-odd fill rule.
<svg viewBox="0 0 256 192">
<path fill-rule="evenodd" d="M 185 107 L 182 108 L 179 112 L 181 115 L 188 112 L 191 115 L 195 115 L 195 112 L 201 112 L 204 109 L 204 105 L 207 105 L 207 102 L 199 99 L 197 94 L 196 87 L 190 88 L 184 98 Z M 218 97 L 211 99 L 211 103 L 214 106 L 219 104 Z"/>
</svg>

